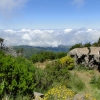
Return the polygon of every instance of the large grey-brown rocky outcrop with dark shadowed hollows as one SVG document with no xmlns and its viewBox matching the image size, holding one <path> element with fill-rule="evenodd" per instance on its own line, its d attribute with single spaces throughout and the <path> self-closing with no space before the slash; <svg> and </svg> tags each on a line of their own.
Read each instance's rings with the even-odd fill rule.
<svg viewBox="0 0 100 100">
<path fill-rule="evenodd" d="M 74 58 L 76 65 L 82 64 L 100 71 L 100 47 L 75 48 L 68 52 L 68 55 Z"/>
</svg>

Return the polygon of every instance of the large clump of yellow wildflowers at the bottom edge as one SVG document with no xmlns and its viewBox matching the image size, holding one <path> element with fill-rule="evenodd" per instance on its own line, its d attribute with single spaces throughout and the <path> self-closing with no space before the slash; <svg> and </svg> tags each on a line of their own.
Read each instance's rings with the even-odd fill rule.
<svg viewBox="0 0 100 100">
<path fill-rule="evenodd" d="M 58 86 L 50 89 L 44 96 L 44 100 L 71 100 L 75 93 L 66 86 Z"/>
</svg>

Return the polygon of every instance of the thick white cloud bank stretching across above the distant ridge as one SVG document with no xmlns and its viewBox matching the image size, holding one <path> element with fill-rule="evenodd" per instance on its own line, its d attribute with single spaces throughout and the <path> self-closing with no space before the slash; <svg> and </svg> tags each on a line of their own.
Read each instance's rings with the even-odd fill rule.
<svg viewBox="0 0 100 100">
<path fill-rule="evenodd" d="M 52 46 L 74 45 L 76 43 L 96 42 L 100 30 L 95 29 L 64 29 L 64 30 L 0 30 L 0 37 L 5 44 Z"/>
</svg>

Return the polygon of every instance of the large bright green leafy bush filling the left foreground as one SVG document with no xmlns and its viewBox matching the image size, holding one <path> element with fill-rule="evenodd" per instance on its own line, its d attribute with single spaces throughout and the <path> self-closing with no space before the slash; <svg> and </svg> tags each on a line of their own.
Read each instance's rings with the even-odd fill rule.
<svg viewBox="0 0 100 100">
<path fill-rule="evenodd" d="M 22 58 L 0 54 L 0 96 L 31 94 L 35 87 L 33 64 Z"/>
</svg>

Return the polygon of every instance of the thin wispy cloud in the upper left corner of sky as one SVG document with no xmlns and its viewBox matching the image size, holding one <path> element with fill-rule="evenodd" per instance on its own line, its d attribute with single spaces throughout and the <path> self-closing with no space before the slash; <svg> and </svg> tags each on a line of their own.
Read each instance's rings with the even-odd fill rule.
<svg viewBox="0 0 100 100">
<path fill-rule="evenodd" d="M 0 14 L 7 15 L 15 9 L 24 7 L 28 0 L 0 0 Z"/>
</svg>

